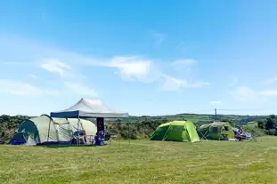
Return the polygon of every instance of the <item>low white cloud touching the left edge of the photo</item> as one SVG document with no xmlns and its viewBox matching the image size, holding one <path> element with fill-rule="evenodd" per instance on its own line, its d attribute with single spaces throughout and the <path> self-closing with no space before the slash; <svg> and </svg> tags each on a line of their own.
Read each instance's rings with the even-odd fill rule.
<svg viewBox="0 0 277 184">
<path fill-rule="evenodd" d="M 21 96 L 57 95 L 57 90 L 43 89 L 20 81 L 0 80 L 0 92 Z"/>
</svg>

